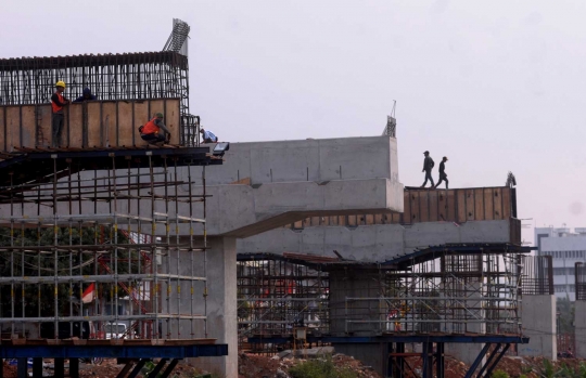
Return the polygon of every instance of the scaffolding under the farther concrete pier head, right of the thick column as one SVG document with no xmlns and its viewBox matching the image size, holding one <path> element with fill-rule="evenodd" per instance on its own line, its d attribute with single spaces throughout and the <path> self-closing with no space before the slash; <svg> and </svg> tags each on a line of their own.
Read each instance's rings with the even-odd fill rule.
<svg viewBox="0 0 586 378">
<path fill-rule="evenodd" d="M 528 266 L 550 265 L 524 256 L 530 251 L 509 244 L 444 245 L 381 264 L 242 255 L 239 334 L 254 339 L 257 352 L 270 352 L 278 339 L 293 342 L 295 320 L 314 301 L 318 321 L 305 317 L 303 324 L 314 341 L 360 335 L 520 337 L 522 284 L 549 287 L 547 275 L 538 281 Z M 292 283 L 302 289 L 293 291 Z"/>
</svg>

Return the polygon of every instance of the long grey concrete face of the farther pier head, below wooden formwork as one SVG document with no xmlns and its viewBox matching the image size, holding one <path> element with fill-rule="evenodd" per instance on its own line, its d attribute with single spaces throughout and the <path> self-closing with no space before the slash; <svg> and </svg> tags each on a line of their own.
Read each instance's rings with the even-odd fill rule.
<svg viewBox="0 0 586 378">
<path fill-rule="evenodd" d="M 314 226 L 303 230 L 280 227 L 238 240 L 239 253 L 298 252 L 345 259 L 381 262 L 417 248 L 445 243 L 510 242 L 510 220 Z"/>
</svg>

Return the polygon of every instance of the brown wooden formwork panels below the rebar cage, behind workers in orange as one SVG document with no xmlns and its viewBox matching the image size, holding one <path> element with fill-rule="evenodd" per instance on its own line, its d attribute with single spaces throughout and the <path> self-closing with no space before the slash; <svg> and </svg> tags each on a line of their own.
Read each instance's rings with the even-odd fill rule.
<svg viewBox="0 0 586 378">
<path fill-rule="evenodd" d="M 144 145 L 138 127 L 155 113 L 164 114 L 170 143 L 180 142 L 179 99 L 91 101 L 64 108 L 62 147 L 122 147 Z M 0 106 L 0 151 L 49 147 L 52 144 L 51 105 Z"/>
</svg>

